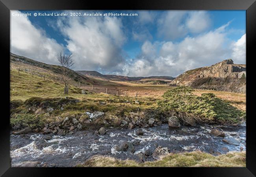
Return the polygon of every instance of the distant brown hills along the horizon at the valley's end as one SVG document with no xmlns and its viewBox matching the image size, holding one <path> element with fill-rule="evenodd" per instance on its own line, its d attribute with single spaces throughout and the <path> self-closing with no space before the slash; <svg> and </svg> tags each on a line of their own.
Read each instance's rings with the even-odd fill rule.
<svg viewBox="0 0 256 177">
<path fill-rule="evenodd" d="M 150 76 L 150 77 L 128 77 L 119 75 L 109 75 L 100 74 L 97 71 L 76 71 L 84 76 L 91 78 L 99 78 L 109 81 L 143 81 L 143 80 L 162 80 L 162 81 L 172 81 L 174 77 L 171 76 Z"/>
</svg>

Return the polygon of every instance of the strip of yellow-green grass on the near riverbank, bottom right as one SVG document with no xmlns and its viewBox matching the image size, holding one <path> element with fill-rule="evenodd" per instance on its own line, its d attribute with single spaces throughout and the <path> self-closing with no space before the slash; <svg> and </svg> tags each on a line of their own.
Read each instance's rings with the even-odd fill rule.
<svg viewBox="0 0 256 177">
<path fill-rule="evenodd" d="M 170 153 L 154 162 L 138 163 L 113 157 L 95 156 L 77 167 L 245 167 L 246 152 L 229 152 L 213 156 L 201 151 Z"/>
</svg>

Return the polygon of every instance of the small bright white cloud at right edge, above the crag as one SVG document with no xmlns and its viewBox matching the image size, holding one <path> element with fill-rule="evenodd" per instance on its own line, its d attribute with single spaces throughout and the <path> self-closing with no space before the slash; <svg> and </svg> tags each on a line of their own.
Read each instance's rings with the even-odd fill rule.
<svg viewBox="0 0 256 177">
<path fill-rule="evenodd" d="M 245 63 L 246 61 L 246 34 L 231 45 L 233 50 L 232 59 L 234 63 Z"/>
</svg>

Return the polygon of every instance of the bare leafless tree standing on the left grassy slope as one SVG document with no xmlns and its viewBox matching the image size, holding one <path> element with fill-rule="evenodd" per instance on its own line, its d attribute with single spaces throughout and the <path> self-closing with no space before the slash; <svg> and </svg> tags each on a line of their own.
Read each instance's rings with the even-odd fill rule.
<svg viewBox="0 0 256 177">
<path fill-rule="evenodd" d="M 63 81 L 64 81 L 64 94 L 69 94 L 69 79 L 67 77 L 67 74 L 69 74 L 70 69 L 74 66 L 74 61 L 72 59 L 72 55 L 70 54 L 64 54 L 62 52 L 59 52 L 57 55 L 57 59 L 59 61 L 59 64 L 62 66 L 63 71 Z"/>
</svg>

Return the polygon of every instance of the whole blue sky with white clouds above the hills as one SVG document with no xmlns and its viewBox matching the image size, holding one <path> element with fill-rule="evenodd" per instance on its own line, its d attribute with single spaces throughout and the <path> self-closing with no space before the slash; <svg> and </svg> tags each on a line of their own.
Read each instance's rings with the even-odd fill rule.
<svg viewBox="0 0 256 177">
<path fill-rule="evenodd" d="M 246 11 L 11 11 L 10 18 L 12 53 L 58 65 L 62 51 L 74 70 L 176 77 L 230 58 L 245 64 Z"/>
</svg>

